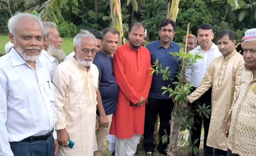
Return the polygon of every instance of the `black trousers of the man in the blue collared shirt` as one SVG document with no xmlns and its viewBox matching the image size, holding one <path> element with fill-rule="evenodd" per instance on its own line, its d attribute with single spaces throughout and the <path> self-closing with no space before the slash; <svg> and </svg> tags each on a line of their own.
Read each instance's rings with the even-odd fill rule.
<svg viewBox="0 0 256 156">
<path fill-rule="evenodd" d="M 166 130 L 168 136 L 170 136 L 170 120 L 171 113 L 174 104 L 171 99 L 157 99 L 148 98 L 148 105 L 146 105 L 146 116 L 145 116 L 145 126 L 144 126 L 144 148 L 146 152 L 154 152 L 154 124 L 156 121 L 157 113 L 159 113 L 160 127 L 159 127 L 159 139 L 160 143 L 158 150 L 165 150 L 169 143 L 169 137 L 165 144 L 162 142 L 162 136 L 166 135 L 164 130 Z"/>
</svg>

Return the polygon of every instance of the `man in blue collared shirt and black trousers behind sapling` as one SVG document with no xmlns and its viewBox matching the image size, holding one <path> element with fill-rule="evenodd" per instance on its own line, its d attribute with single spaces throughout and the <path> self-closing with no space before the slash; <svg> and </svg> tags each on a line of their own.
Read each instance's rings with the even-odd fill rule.
<svg viewBox="0 0 256 156">
<path fill-rule="evenodd" d="M 166 66 L 169 66 L 171 71 L 170 78 L 174 79 L 178 67 L 178 63 L 174 60 L 173 56 L 168 52 L 179 52 L 181 47 L 172 42 L 172 38 L 175 34 L 176 24 L 173 20 L 166 19 L 159 24 L 159 36 L 156 41 L 149 43 L 146 48 L 150 51 L 151 64 L 153 65 L 156 62 L 156 59 L 159 59 L 159 64 L 162 64 L 162 68 L 165 69 Z M 172 99 L 169 99 L 168 94 L 163 94 L 161 90 L 162 86 L 168 87 L 172 85 L 171 81 L 163 81 L 162 75 L 155 73 L 153 74 L 153 79 L 151 83 L 151 88 L 149 92 L 148 105 L 146 105 L 146 117 L 145 117 L 145 127 L 144 127 L 144 148 L 146 151 L 146 156 L 152 155 L 154 152 L 154 123 L 156 121 L 157 113 L 160 118 L 160 127 L 159 127 L 159 138 L 161 139 L 165 135 L 164 130 L 167 134 L 170 135 L 170 123 L 171 113 L 174 107 Z M 161 154 L 167 155 L 168 141 L 163 144 L 160 140 L 158 151 Z"/>
</svg>

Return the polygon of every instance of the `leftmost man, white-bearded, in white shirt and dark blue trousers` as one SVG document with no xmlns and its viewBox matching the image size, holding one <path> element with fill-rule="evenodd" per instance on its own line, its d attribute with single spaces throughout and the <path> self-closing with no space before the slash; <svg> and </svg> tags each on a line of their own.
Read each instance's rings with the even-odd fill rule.
<svg viewBox="0 0 256 156">
<path fill-rule="evenodd" d="M 0 155 L 48 156 L 59 147 L 54 131 L 55 94 L 43 49 L 38 17 L 16 13 L 9 19 L 14 47 L 0 58 Z"/>
</svg>

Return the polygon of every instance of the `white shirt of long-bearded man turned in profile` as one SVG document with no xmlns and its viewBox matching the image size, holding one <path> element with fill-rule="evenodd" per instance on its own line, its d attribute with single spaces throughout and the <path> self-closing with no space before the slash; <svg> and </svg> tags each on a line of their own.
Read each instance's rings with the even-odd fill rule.
<svg viewBox="0 0 256 156">
<path fill-rule="evenodd" d="M 45 50 L 42 50 L 41 55 L 39 56 L 39 59 L 41 62 L 45 62 L 52 79 L 55 69 L 59 65 L 59 61 L 55 57 L 51 56 Z"/>
</svg>

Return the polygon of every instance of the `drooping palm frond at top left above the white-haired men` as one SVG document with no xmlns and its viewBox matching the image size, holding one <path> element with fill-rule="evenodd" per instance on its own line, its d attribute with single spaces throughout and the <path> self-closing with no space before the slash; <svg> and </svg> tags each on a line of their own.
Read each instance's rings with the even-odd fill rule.
<svg viewBox="0 0 256 156">
<path fill-rule="evenodd" d="M 40 18 L 42 21 L 51 21 L 54 23 L 59 22 L 61 15 L 61 8 L 67 2 L 67 0 L 48 0 L 40 9 Z"/>
</svg>

